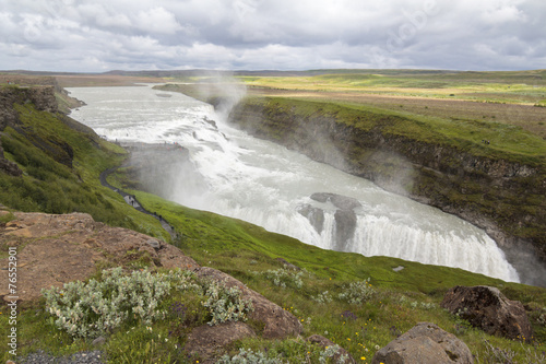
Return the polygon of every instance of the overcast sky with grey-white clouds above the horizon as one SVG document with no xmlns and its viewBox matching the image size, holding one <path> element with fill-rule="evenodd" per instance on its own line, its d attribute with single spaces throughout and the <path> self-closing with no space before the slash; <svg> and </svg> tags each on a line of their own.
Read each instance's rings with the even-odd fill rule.
<svg viewBox="0 0 546 364">
<path fill-rule="evenodd" d="M 0 69 L 546 69 L 545 0 L 0 0 Z"/>
</svg>

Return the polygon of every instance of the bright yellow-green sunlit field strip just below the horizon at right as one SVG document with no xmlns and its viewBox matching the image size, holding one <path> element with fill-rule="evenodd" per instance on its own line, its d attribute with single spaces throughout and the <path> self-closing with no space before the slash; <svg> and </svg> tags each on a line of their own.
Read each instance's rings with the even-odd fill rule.
<svg viewBox="0 0 546 364">
<path fill-rule="evenodd" d="M 534 105 L 546 99 L 546 72 L 384 72 L 310 77 L 239 77 L 250 86 L 320 92 L 361 92 Z"/>
</svg>

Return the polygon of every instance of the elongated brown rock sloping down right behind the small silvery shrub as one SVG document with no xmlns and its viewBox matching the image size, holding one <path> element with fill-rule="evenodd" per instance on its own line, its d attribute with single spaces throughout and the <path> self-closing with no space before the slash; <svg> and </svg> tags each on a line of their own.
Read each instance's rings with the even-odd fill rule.
<svg viewBox="0 0 546 364">
<path fill-rule="evenodd" d="M 258 292 L 248 289 L 232 275 L 207 267 L 198 268 L 195 274 L 221 282 L 228 287 L 237 286 L 242 292 L 245 300 L 251 300 L 254 310 L 249 314 L 249 318 L 264 324 L 263 338 L 282 339 L 301 333 L 301 324 L 296 316 L 268 301 Z"/>
</svg>

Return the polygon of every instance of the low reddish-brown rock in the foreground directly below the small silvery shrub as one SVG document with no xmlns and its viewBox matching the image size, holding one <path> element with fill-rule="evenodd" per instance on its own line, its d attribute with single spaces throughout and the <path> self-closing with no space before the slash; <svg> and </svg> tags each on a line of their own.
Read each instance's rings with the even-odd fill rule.
<svg viewBox="0 0 546 364">
<path fill-rule="evenodd" d="M 254 330 L 244 322 L 226 322 L 217 326 L 203 325 L 188 336 L 186 352 L 198 355 L 200 363 L 214 363 L 224 348 L 234 341 L 256 337 Z"/>
</svg>

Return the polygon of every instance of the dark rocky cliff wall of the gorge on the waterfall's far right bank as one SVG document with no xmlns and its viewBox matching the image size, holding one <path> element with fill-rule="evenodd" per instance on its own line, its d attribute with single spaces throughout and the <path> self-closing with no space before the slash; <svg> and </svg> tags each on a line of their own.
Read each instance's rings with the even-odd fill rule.
<svg viewBox="0 0 546 364">
<path fill-rule="evenodd" d="M 543 164 L 487 152 L 475 155 L 440 138 L 411 138 L 399 131 L 406 121 L 400 116 L 356 115 L 321 103 L 249 98 L 233 109 L 229 120 L 485 228 L 523 282 L 546 286 Z"/>
</svg>

